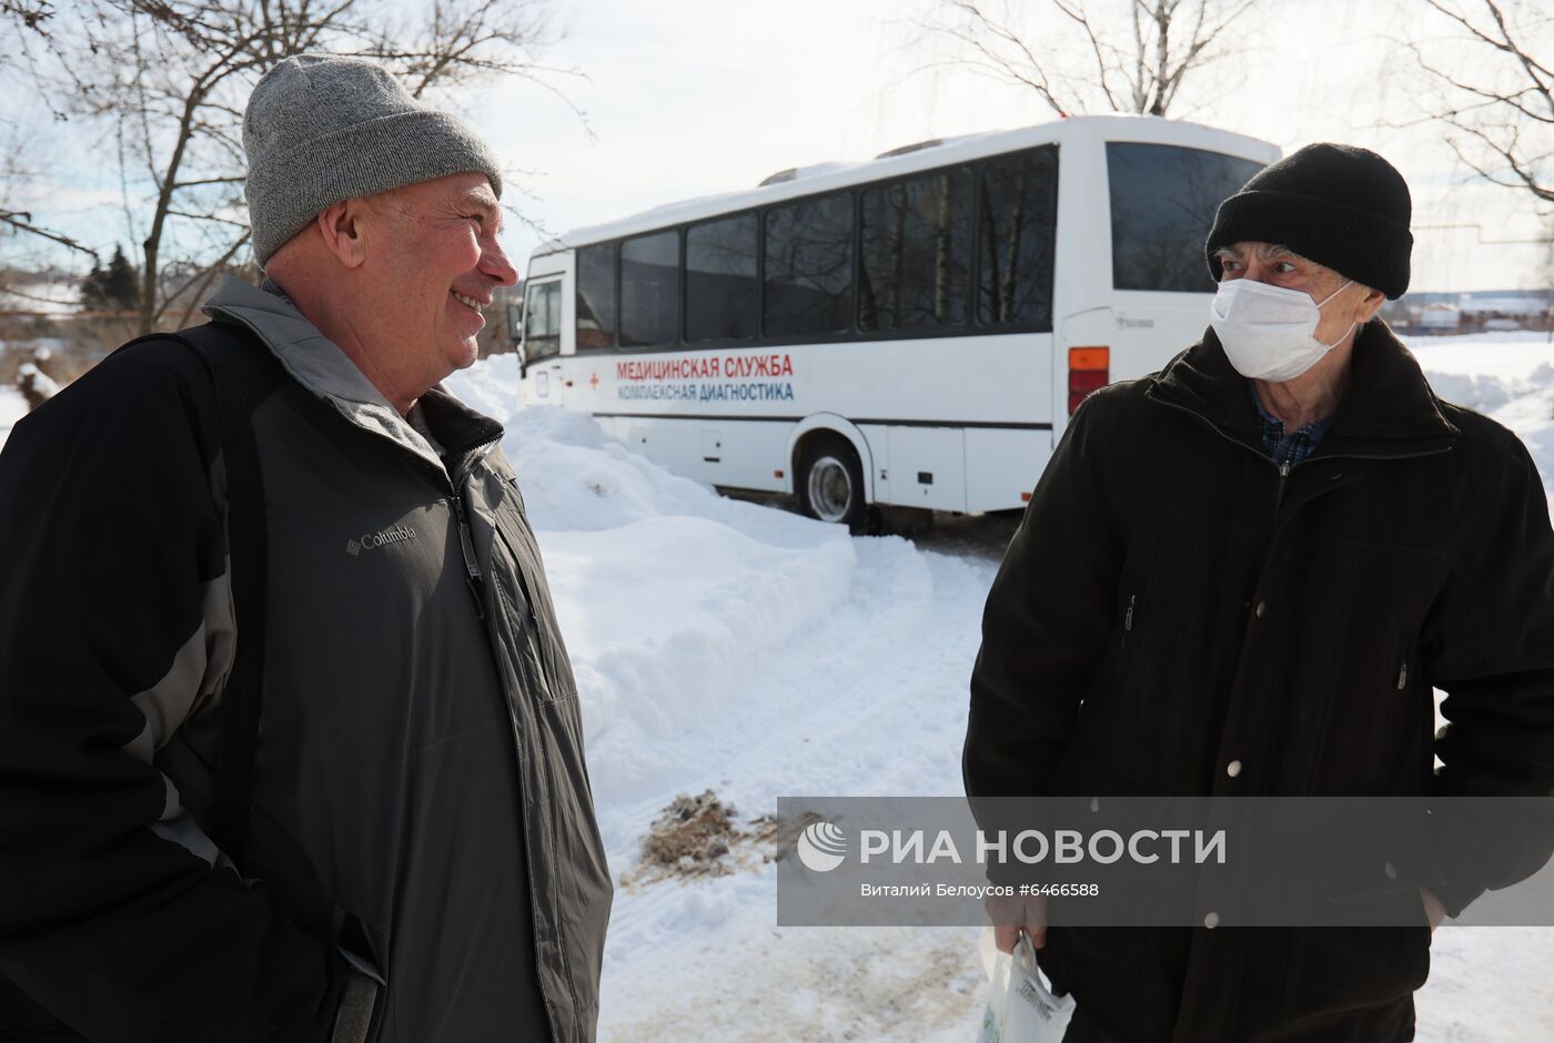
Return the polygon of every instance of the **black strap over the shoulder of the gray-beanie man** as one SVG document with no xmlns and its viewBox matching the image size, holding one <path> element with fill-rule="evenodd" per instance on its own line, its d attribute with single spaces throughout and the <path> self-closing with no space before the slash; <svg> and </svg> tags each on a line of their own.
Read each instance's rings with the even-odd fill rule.
<svg viewBox="0 0 1554 1043">
<path fill-rule="evenodd" d="M 253 762 L 260 740 L 264 684 L 267 530 L 264 480 L 253 440 L 253 407 L 275 379 L 275 361 L 252 334 L 230 323 L 205 323 L 180 333 L 131 340 L 176 340 L 186 345 L 216 389 L 222 459 L 227 469 L 227 550 L 232 600 L 238 620 L 236 656 L 222 693 L 216 779 L 205 828 L 239 867 L 249 846 L 253 805 Z"/>
</svg>

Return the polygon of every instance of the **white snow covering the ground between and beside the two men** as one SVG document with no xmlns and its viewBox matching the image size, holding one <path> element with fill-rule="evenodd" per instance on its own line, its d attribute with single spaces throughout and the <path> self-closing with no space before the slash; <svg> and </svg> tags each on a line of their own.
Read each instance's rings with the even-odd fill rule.
<svg viewBox="0 0 1554 1043">
<path fill-rule="evenodd" d="M 1554 480 L 1545 334 L 1419 337 L 1437 392 L 1490 413 Z M 448 381 L 513 413 L 516 362 Z M 583 699 L 617 880 L 678 793 L 741 822 L 779 796 L 957 794 L 967 679 L 1012 525 L 943 519 L 918 542 L 732 501 L 528 409 L 503 441 L 545 555 Z M 1554 930 L 1442 928 L 1420 1043 L 1554 1038 Z M 985 979 L 977 928 L 777 928 L 775 872 L 620 883 L 600 1038 L 967 1040 Z"/>
</svg>

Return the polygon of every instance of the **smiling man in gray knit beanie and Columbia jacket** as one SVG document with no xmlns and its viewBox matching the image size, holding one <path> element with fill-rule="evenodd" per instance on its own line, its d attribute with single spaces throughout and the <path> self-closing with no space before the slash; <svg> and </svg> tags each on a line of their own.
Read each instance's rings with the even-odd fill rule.
<svg viewBox="0 0 1554 1043">
<path fill-rule="evenodd" d="M 499 165 L 328 56 L 242 138 L 264 286 L 0 454 L 0 1038 L 592 1040 L 577 682 L 502 427 L 438 385 L 516 280 Z"/>
</svg>

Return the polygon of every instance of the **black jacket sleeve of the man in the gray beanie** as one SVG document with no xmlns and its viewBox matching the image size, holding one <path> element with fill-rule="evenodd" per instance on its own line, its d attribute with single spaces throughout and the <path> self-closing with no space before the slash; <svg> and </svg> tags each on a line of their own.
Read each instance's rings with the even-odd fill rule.
<svg viewBox="0 0 1554 1043">
<path fill-rule="evenodd" d="M 152 763 L 216 651 L 216 429 L 199 361 L 152 342 L 0 452 L 0 978 L 104 1043 L 326 1035 L 331 947 Z"/>
</svg>

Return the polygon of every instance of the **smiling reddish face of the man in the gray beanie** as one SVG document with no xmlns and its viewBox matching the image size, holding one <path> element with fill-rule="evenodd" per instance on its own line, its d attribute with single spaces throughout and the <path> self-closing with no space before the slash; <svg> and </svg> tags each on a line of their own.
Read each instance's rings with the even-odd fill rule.
<svg viewBox="0 0 1554 1043">
<path fill-rule="evenodd" d="M 480 309 L 517 272 L 497 233 L 502 210 L 483 174 L 452 174 L 375 197 L 373 325 L 393 344 L 393 368 L 430 387 L 479 358 Z"/>
</svg>

